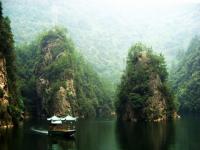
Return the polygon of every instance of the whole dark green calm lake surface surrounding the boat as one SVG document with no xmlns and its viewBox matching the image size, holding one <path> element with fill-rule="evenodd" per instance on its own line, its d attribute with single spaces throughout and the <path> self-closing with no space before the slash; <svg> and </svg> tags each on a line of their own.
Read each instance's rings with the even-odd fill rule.
<svg viewBox="0 0 200 150">
<path fill-rule="evenodd" d="M 43 133 L 33 131 L 39 129 Z M 117 123 L 79 120 L 75 140 L 45 134 L 43 121 L 0 130 L 0 150 L 199 150 L 200 116 L 168 123 Z"/>
</svg>

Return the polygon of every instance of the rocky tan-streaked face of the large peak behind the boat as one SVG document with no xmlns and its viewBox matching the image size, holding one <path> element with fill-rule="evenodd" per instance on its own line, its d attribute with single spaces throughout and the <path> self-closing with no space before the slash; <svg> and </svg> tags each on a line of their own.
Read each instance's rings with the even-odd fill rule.
<svg viewBox="0 0 200 150">
<path fill-rule="evenodd" d="M 36 88 L 38 99 L 38 114 L 41 116 L 72 114 L 73 99 L 76 92 L 73 77 L 68 73 L 56 72 L 55 78 L 49 75 L 48 67 L 55 65 L 61 57 L 66 56 L 64 48 L 59 49 L 62 41 L 59 37 L 46 40 L 41 48 L 41 57 L 36 65 Z M 59 49 L 59 50 L 57 50 Z M 57 52 L 55 52 L 57 50 Z M 61 58 L 62 59 L 62 58 Z M 59 68 L 62 69 L 62 68 Z"/>
</svg>

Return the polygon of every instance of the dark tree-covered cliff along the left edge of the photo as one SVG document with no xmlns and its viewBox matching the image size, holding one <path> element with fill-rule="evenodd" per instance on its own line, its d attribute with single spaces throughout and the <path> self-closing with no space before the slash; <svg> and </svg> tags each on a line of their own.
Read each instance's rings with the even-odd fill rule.
<svg viewBox="0 0 200 150">
<path fill-rule="evenodd" d="M 14 40 L 10 20 L 2 13 L 0 2 L 0 127 L 18 124 L 23 102 L 18 94 Z"/>
</svg>

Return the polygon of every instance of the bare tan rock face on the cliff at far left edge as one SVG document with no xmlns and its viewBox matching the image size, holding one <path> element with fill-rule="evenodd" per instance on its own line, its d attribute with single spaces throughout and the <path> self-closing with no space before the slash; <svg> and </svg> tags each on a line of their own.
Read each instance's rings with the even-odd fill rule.
<svg viewBox="0 0 200 150">
<path fill-rule="evenodd" d="M 6 72 L 6 61 L 5 58 L 0 57 L 0 126 L 12 125 L 12 117 L 8 113 L 8 82 Z"/>
</svg>

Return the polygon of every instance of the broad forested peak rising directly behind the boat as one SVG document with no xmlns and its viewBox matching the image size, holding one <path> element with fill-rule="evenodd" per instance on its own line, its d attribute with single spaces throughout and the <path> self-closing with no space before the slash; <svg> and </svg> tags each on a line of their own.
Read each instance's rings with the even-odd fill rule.
<svg viewBox="0 0 200 150">
<path fill-rule="evenodd" d="M 112 92 L 77 52 L 65 29 L 44 32 L 16 52 L 20 91 L 29 112 L 38 116 L 111 114 Z"/>
</svg>

